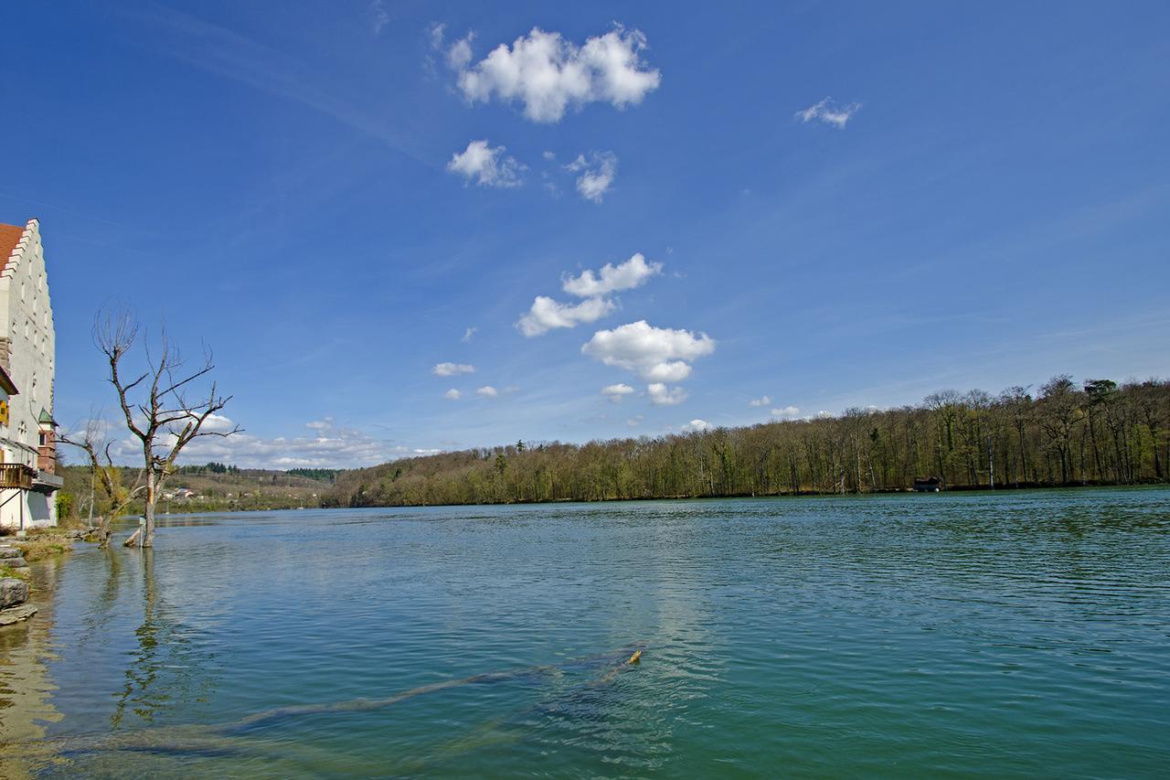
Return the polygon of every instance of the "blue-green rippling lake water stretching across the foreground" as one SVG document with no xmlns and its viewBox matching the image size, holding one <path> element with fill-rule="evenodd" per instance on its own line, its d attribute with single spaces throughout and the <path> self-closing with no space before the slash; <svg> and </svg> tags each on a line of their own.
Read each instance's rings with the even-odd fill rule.
<svg viewBox="0 0 1170 780">
<path fill-rule="evenodd" d="M 4 776 L 1170 767 L 1166 490 L 200 515 L 36 576 Z"/>
</svg>

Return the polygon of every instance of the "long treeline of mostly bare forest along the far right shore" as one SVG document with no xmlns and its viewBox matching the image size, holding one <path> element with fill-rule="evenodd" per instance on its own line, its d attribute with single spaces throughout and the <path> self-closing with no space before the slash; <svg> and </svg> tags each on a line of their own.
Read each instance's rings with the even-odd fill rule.
<svg viewBox="0 0 1170 780">
<path fill-rule="evenodd" d="M 342 472 L 325 506 L 421 506 L 1165 483 L 1170 382 L 1076 384 L 1033 395 L 944 390 L 922 404 L 661 438 L 542 443 Z"/>
</svg>

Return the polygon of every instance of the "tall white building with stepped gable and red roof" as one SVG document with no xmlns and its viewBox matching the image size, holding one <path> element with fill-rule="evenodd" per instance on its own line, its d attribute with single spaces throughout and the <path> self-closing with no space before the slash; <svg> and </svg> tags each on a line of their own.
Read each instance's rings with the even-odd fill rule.
<svg viewBox="0 0 1170 780">
<path fill-rule="evenodd" d="M 0 225 L 0 368 L 16 390 L 0 413 L 0 525 L 57 522 L 56 423 L 53 378 L 56 338 L 40 224 Z M 2 410 L 0 410 L 2 411 Z M 7 418 L 7 419 L 5 419 Z"/>
</svg>

